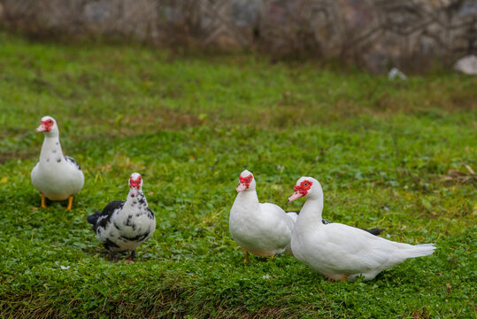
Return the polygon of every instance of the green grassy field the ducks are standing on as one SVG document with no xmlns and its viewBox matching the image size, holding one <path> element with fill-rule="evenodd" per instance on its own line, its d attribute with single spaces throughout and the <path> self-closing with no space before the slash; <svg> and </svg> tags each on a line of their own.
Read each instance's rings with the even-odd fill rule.
<svg viewBox="0 0 477 319">
<path fill-rule="evenodd" d="M 4 34 L 0 57 L 0 317 L 475 318 L 475 77 Z M 85 173 L 69 212 L 39 208 L 30 183 L 46 114 Z M 245 168 L 263 201 L 298 209 L 286 199 L 312 175 L 328 220 L 437 249 L 371 282 L 243 264 L 228 212 Z M 85 217 L 135 171 L 157 230 L 135 264 L 107 261 Z"/>
</svg>

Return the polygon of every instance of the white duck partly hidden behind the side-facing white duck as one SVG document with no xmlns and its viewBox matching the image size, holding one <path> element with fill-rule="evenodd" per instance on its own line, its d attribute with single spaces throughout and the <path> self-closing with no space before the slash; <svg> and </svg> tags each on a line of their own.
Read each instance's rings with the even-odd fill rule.
<svg viewBox="0 0 477 319">
<path fill-rule="evenodd" d="M 255 178 L 248 170 L 244 170 L 239 179 L 228 227 L 237 244 L 245 250 L 244 262 L 250 262 L 249 252 L 261 257 L 291 254 L 291 231 L 298 215 L 287 214 L 271 203 L 259 203 Z"/>
</svg>

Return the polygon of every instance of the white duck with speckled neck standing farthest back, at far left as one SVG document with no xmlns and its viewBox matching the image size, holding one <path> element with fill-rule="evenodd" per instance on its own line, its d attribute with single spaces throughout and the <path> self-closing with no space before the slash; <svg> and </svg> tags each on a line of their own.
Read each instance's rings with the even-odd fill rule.
<svg viewBox="0 0 477 319">
<path fill-rule="evenodd" d="M 40 160 L 31 173 L 32 184 L 42 194 L 42 208 L 46 208 L 45 198 L 68 199 L 66 210 L 70 210 L 73 196 L 81 191 L 84 185 L 81 167 L 76 160 L 63 155 L 55 119 L 50 116 L 42 117 L 35 132 L 42 132 L 44 135 Z"/>
</svg>

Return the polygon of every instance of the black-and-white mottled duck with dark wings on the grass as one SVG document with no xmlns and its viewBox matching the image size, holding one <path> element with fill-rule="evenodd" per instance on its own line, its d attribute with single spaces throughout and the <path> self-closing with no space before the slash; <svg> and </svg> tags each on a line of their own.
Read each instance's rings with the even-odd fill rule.
<svg viewBox="0 0 477 319">
<path fill-rule="evenodd" d="M 131 251 L 127 261 L 135 261 L 135 249 L 156 230 L 156 217 L 142 192 L 139 173 L 129 177 L 129 189 L 126 201 L 112 201 L 102 212 L 88 216 L 88 222 L 104 248 L 111 253 Z"/>
</svg>

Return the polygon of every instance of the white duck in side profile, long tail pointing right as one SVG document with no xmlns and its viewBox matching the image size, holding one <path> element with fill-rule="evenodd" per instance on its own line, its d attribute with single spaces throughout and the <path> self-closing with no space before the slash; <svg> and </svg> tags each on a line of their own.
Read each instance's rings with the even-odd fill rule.
<svg viewBox="0 0 477 319">
<path fill-rule="evenodd" d="M 412 257 L 427 256 L 433 244 L 396 243 L 341 223 L 323 224 L 323 190 L 312 177 L 301 177 L 289 201 L 305 197 L 291 237 L 299 261 L 334 280 L 371 280 L 382 270 Z"/>
</svg>

